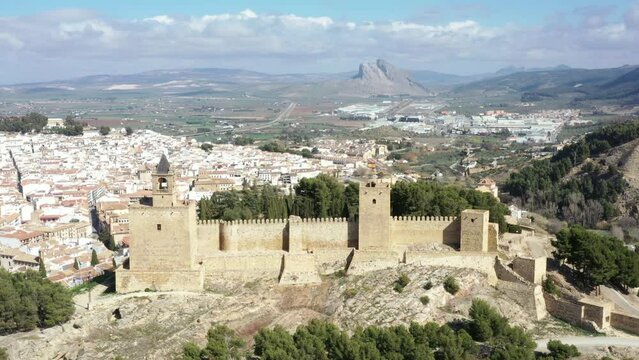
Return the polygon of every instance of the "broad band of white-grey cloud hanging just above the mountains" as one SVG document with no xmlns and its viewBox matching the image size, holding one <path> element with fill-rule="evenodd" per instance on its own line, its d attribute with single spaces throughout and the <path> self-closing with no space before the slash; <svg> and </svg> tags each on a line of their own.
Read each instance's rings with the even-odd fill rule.
<svg viewBox="0 0 639 360">
<path fill-rule="evenodd" d="M 506 64 L 637 62 L 639 2 L 616 19 L 600 16 L 595 21 L 587 11 L 573 16 L 582 16 L 583 21 L 559 18 L 522 27 L 487 26 L 469 18 L 443 24 L 356 22 L 250 9 L 194 17 L 159 14 L 142 20 L 110 19 L 82 9 L 57 10 L 0 17 L 0 66 L 6 74 L 19 74 L 12 69 L 21 69 L 35 76 L 51 68 L 73 72 L 80 64 L 87 73 L 181 64 L 273 72 L 344 71 L 371 57 L 453 72 L 481 72 Z M 16 60 L 27 57 L 29 63 Z M 476 64 L 485 68 L 477 69 Z M 76 74 L 57 77 L 68 75 Z M 0 76 L 2 82 L 6 80 Z"/>
</svg>

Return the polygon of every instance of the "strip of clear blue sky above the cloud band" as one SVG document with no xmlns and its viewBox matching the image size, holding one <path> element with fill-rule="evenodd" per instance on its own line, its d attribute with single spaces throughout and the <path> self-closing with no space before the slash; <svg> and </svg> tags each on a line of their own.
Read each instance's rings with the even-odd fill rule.
<svg viewBox="0 0 639 360">
<path fill-rule="evenodd" d="M 115 18 L 139 18 L 157 14 L 183 14 L 198 16 L 211 13 L 235 13 L 251 9 L 258 13 L 288 14 L 300 16 L 330 16 L 334 19 L 406 20 L 428 18 L 444 23 L 459 16 L 488 19 L 499 25 L 505 23 L 541 23 L 553 14 L 572 13 L 577 8 L 615 7 L 617 11 L 628 7 L 632 1 L 596 0 L 263 0 L 263 1 L 194 1 L 194 0 L 19 0 L 3 1 L 3 15 L 29 15 L 60 8 L 88 8 Z"/>
</svg>

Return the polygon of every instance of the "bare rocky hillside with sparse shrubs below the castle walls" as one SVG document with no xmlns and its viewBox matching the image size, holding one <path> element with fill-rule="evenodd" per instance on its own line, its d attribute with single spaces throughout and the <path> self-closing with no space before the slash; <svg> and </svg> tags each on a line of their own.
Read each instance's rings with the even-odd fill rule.
<svg viewBox="0 0 639 360">
<path fill-rule="evenodd" d="M 402 293 L 394 281 L 405 273 L 411 282 Z M 460 291 L 444 291 L 446 276 L 454 276 Z M 430 281 L 433 287 L 424 289 Z M 430 302 L 423 305 L 420 297 Z M 79 296 L 74 317 L 67 324 L 0 337 L 11 359 L 173 359 L 186 341 L 204 343 L 214 323 L 226 324 L 249 340 L 264 326 L 295 329 L 312 318 L 327 318 L 353 329 L 365 325 L 439 323 L 466 317 L 474 297 L 496 306 L 513 324 L 536 336 L 580 334 L 579 330 L 548 318 L 533 320 L 527 309 L 489 286 L 470 269 L 428 268 L 410 265 L 360 276 L 327 277 L 312 286 L 279 286 L 275 280 L 248 283 L 219 281 L 204 293 L 148 292 Z"/>
</svg>

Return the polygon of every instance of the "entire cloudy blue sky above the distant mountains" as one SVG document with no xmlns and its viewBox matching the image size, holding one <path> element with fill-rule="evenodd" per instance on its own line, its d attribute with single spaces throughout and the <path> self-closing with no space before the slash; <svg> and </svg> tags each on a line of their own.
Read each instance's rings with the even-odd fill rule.
<svg viewBox="0 0 639 360">
<path fill-rule="evenodd" d="M 156 68 L 457 74 L 639 63 L 639 0 L 0 3 L 0 83 Z"/>
</svg>

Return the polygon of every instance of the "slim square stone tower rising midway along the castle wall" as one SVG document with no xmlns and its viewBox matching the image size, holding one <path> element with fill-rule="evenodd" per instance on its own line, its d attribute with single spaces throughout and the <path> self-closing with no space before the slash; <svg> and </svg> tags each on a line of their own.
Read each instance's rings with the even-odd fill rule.
<svg viewBox="0 0 639 360">
<path fill-rule="evenodd" d="M 390 248 L 390 184 L 371 181 L 359 187 L 358 250 Z"/>
</svg>

